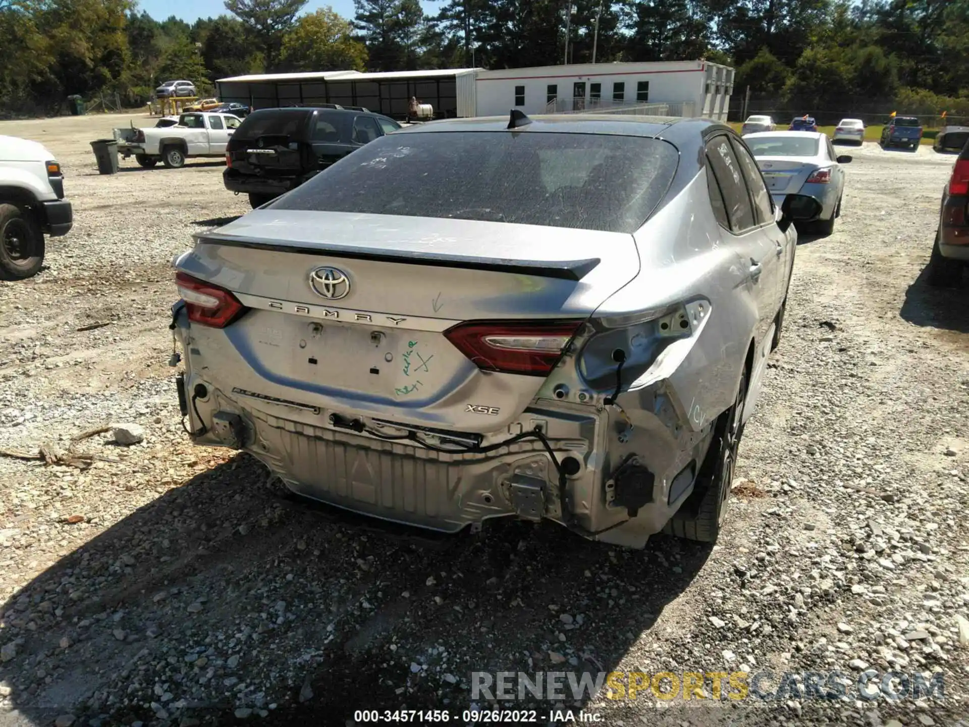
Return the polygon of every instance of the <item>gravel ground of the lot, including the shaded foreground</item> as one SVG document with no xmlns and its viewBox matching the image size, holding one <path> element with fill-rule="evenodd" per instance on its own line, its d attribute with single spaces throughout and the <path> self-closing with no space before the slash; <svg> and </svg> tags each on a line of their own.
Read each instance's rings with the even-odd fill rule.
<svg viewBox="0 0 969 727">
<path fill-rule="evenodd" d="M 0 450 L 55 462 L 0 457 L 0 725 L 344 725 L 367 708 L 462 723 L 494 706 L 473 698 L 476 671 L 852 682 L 842 700 L 808 698 L 802 676 L 773 700 L 729 698 L 725 680 L 719 701 L 647 688 L 498 703 L 540 708 L 539 724 L 560 721 L 551 708 L 610 725 L 969 715 L 969 294 L 923 283 L 951 157 L 848 152 L 834 235 L 797 248 L 719 545 L 629 552 L 547 524 L 416 539 L 191 446 L 168 365 L 169 265 L 247 204 L 218 164 L 99 176 L 87 142 L 127 123 L 0 123 L 55 153 L 76 210 L 46 269 L 0 282 Z M 118 422 L 143 441 L 71 441 Z M 944 699 L 860 699 L 868 669 L 940 673 Z"/>
</svg>

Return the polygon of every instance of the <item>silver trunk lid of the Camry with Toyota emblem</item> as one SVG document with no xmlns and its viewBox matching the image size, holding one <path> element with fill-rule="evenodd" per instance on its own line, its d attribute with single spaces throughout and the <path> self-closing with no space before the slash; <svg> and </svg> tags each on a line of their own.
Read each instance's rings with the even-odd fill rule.
<svg viewBox="0 0 969 727">
<path fill-rule="evenodd" d="M 484 433 L 512 423 L 546 379 L 480 370 L 444 332 L 471 320 L 584 320 L 640 259 L 624 233 L 269 207 L 199 236 L 177 267 L 251 308 L 224 331 L 193 329 L 200 341 L 222 336 L 219 345 L 248 364 L 233 369 L 234 387 L 350 417 Z M 321 268 L 334 271 L 339 298 L 314 291 L 310 275 Z M 317 290 L 327 290 L 325 278 Z M 274 406 L 264 401 L 254 405 Z"/>
</svg>

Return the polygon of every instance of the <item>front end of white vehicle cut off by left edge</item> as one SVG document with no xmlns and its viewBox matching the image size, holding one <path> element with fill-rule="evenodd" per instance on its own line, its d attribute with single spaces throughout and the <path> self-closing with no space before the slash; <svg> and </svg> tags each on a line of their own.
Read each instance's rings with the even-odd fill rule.
<svg viewBox="0 0 969 727">
<path fill-rule="evenodd" d="M 44 235 L 74 224 L 64 174 L 38 142 L 0 136 L 0 276 L 30 277 L 44 263 Z"/>
</svg>

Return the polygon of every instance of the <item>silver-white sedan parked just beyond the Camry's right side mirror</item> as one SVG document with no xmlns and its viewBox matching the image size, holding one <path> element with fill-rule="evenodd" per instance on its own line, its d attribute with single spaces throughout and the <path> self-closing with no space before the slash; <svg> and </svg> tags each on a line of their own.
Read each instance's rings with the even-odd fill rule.
<svg viewBox="0 0 969 727">
<path fill-rule="evenodd" d="M 850 162 L 851 156 L 838 156 L 828 137 L 819 132 L 774 131 L 749 134 L 743 141 L 753 152 L 774 203 L 779 207 L 785 197 L 795 194 L 814 198 L 821 211 L 802 219 L 830 235 L 834 218 L 841 214 L 845 188 L 841 165 Z"/>
</svg>

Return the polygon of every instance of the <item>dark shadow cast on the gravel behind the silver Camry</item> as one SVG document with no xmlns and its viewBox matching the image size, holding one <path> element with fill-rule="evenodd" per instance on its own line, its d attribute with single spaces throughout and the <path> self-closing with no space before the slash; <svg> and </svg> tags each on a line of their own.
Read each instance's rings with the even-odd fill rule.
<svg viewBox="0 0 969 727">
<path fill-rule="evenodd" d="M 546 523 L 429 541 L 363 524 L 246 455 L 166 491 L 4 603 L 15 712 L 0 724 L 457 715 L 472 672 L 610 672 L 711 552 L 667 537 L 626 551 Z"/>
</svg>

